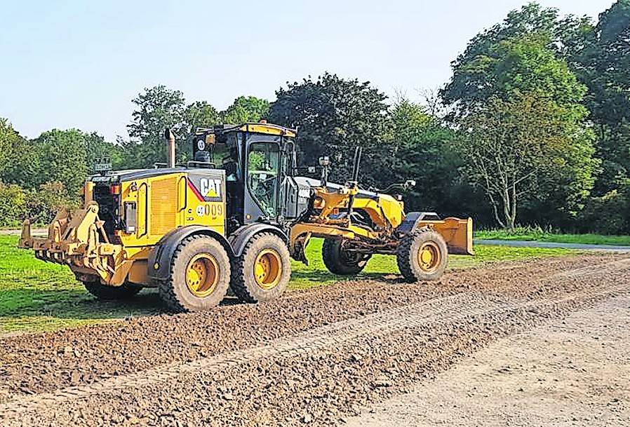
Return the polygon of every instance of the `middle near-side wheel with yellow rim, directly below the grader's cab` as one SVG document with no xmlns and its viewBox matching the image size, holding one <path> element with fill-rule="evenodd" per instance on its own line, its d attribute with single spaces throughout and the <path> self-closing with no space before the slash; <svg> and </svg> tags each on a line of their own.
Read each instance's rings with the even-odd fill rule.
<svg viewBox="0 0 630 427">
<path fill-rule="evenodd" d="M 251 238 L 232 265 L 232 291 L 248 303 L 280 297 L 291 278 L 289 250 L 273 233 Z"/>
</svg>

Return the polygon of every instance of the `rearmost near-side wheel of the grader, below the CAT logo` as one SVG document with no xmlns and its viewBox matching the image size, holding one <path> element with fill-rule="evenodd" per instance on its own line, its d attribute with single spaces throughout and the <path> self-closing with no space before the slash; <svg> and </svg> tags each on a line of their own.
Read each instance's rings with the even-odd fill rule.
<svg viewBox="0 0 630 427">
<path fill-rule="evenodd" d="M 223 300 L 229 277 L 229 257 L 221 243 L 209 236 L 189 236 L 177 245 L 170 276 L 158 283 L 158 290 L 172 311 L 203 311 Z"/>
</svg>

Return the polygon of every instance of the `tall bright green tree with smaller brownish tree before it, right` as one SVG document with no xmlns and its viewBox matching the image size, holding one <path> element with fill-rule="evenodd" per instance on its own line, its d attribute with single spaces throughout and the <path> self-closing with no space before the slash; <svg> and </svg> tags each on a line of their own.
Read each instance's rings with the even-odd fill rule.
<svg viewBox="0 0 630 427">
<path fill-rule="evenodd" d="M 453 62 L 441 95 L 464 132 L 464 170 L 502 226 L 515 226 L 518 208 L 531 222 L 566 222 L 594 186 L 587 86 L 566 60 L 586 46 L 590 28 L 586 19 L 558 20 L 555 9 L 528 4 L 474 37 Z"/>
</svg>

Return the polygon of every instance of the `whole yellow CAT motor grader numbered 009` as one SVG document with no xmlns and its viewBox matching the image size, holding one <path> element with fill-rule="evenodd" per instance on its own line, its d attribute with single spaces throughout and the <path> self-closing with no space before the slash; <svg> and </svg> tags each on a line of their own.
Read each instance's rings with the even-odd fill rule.
<svg viewBox="0 0 630 427">
<path fill-rule="evenodd" d="M 373 254 L 396 256 L 409 282 L 435 280 L 448 253 L 472 254 L 471 219 L 440 219 L 403 210 L 389 189 L 359 188 L 361 150 L 344 184 L 297 176 L 297 131 L 268 123 L 196 131 L 194 161 L 113 171 L 107 162 L 88 177 L 83 206 L 60 210 L 48 236 L 22 227 L 20 248 L 66 264 L 99 299 L 122 299 L 157 287 L 173 311 L 216 306 L 229 290 L 254 303 L 279 297 L 290 257 L 324 238 L 323 262 L 338 275 L 359 273 Z M 312 170 L 311 170 L 312 172 Z"/>
</svg>

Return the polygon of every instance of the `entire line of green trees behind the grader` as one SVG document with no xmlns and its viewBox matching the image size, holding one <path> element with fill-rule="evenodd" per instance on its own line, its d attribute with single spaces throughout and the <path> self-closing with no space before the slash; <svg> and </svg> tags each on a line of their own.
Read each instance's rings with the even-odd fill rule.
<svg viewBox="0 0 630 427">
<path fill-rule="evenodd" d="M 364 186 L 415 179 L 408 209 L 507 229 L 630 233 L 630 0 L 596 21 L 526 4 L 474 36 L 452 69 L 420 102 L 329 73 L 224 111 L 156 86 L 132 101 L 129 137 L 116 142 L 74 129 L 26 140 L 0 119 L 0 225 L 76 204 L 100 156 L 115 168 L 163 161 L 167 126 L 184 161 L 196 127 L 265 118 L 299 129 L 302 165 L 330 156 L 331 179 L 347 179 L 358 146 Z"/>
</svg>

